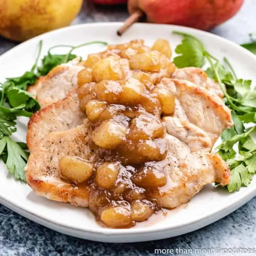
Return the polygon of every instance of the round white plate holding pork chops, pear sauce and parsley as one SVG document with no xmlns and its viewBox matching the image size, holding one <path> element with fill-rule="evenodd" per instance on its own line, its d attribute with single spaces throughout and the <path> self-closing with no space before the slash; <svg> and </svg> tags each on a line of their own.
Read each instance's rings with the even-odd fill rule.
<svg viewBox="0 0 256 256">
<path fill-rule="evenodd" d="M 154 40 L 160 37 L 168 39 L 175 49 L 181 37 L 172 34 L 172 30 L 191 33 L 198 37 L 215 57 L 219 59 L 227 57 L 239 77 L 256 81 L 256 57 L 226 39 L 192 28 L 152 24 L 133 25 L 122 37 L 118 37 L 116 31 L 120 26 L 121 23 L 83 24 L 46 33 L 22 43 L 0 56 L 0 81 L 4 81 L 5 77 L 20 76 L 31 68 L 41 39 L 43 40 L 42 56 L 51 46 L 57 44 L 78 45 L 94 40 L 116 44 L 142 38 L 145 39 L 146 45 L 151 46 Z M 104 49 L 104 46 L 92 45 L 81 48 L 76 53 L 86 58 L 88 53 Z M 58 51 L 66 53 L 63 48 Z M 18 123 L 16 139 L 25 141 L 26 122 L 27 119 L 22 119 Z M 162 214 L 154 215 L 149 222 L 137 224 L 131 229 L 108 229 L 98 225 L 89 210 L 39 197 L 27 184 L 15 181 L 2 162 L 0 169 L 2 204 L 48 228 L 80 238 L 104 242 L 135 242 L 184 234 L 223 218 L 256 195 L 256 178 L 248 188 L 242 188 L 233 194 L 208 185 L 188 204 L 169 211 L 165 217 Z"/>
</svg>

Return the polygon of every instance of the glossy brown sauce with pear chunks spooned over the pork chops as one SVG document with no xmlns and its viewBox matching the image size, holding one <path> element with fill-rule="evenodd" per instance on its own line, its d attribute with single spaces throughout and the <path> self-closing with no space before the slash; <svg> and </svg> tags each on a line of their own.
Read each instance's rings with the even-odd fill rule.
<svg viewBox="0 0 256 256">
<path fill-rule="evenodd" d="M 90 122 L 95 154 L 90 160 L 65 156 L 60 169 L 63 178 L 90 186 L 89 208 L 102 225 L 129 228 L 160 209 L 149 194 L 167 183 L 160 118 L 172 114 L 175 103 L 156 88 L 175 69 L 166 56 L 132 41 L 89 55 L 78 75 L 80 108 Z"/>
</svg>

